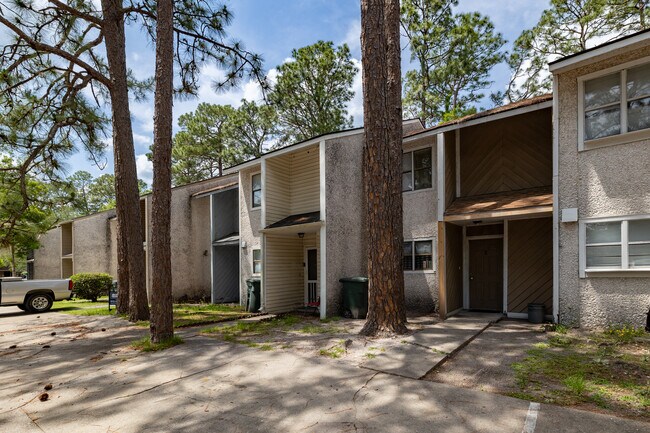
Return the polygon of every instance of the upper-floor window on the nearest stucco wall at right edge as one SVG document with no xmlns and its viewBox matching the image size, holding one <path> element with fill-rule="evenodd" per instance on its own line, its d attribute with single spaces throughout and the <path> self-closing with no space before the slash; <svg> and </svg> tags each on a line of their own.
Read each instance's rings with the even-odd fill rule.
<svg viewBox="0 0 650 433">
<path fill-rule="evenodd" d="M 650 128 L 650 63 L 583 81 L 584 141 Z"/>
</svg>

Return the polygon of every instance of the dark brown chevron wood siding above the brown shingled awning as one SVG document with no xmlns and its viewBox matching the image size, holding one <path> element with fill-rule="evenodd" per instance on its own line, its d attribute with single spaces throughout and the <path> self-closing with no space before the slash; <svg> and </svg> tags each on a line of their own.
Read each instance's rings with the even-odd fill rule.
<svg viewBox="0 0 650 433">
<path fill-rule="evenodd" d="M 461 196 L 552 183 L 551 109 L 461 130 Z"/>
</svg>

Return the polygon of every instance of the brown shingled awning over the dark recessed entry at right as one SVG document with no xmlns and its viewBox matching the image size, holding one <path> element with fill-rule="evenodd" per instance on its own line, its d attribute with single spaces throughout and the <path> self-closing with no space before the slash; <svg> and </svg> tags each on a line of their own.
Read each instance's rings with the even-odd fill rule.
<svg viewBox="0 0 650 433">
<path fill-rule="evenodd" d="M 445 211 L 445 221 L 502 219 L 553 213 L 552 187 L 506 191 L 454 200 Z"/>
</svg>

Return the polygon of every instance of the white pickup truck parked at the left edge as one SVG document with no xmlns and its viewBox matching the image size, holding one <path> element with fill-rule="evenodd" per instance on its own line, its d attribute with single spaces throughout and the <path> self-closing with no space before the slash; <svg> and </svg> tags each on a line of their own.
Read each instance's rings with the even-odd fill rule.
<svg viewBox="0 0 650 433">
<path fill-rule="evenodd" d="M 72 297 L 71 280 L 23 280 L 0 278 L 0 307 L 16 306 L 28 313 L 43 313 L 54 301 Z"/>
</svg>

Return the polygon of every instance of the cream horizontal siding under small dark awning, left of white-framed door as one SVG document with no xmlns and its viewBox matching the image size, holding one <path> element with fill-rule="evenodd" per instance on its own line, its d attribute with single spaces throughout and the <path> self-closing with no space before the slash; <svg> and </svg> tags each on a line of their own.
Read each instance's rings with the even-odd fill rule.
<svg viewBox="0 0 650 433">
<path fill-rule="evenodd" d="M 304 303 L 304 248 L 298 236 L 265 237 L 266 311 L 283 313 Z"/>
</svg>

